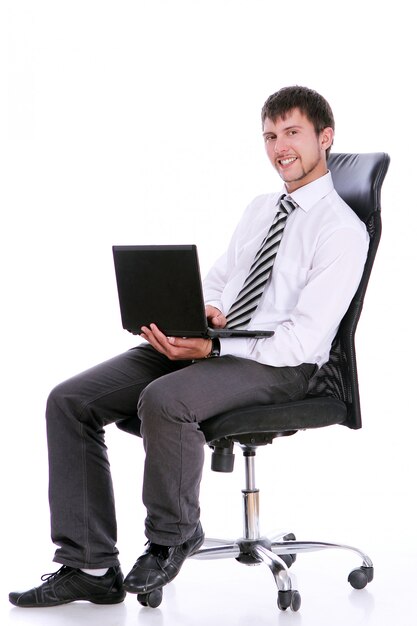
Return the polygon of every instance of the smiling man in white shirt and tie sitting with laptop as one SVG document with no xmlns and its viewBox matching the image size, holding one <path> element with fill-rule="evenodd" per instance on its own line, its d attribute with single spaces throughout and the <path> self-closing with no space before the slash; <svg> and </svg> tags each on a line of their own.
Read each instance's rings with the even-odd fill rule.
<svg viewBox="0 0 417 626">
<path fill-rule="evenodd" d="M 368 236 L 327 170 L 334 121 L 326 100 L 304 87 L 281 89 L 266 101 L 262 124 L 284 188 L 249 205 L 204 291 L 213 327 L 243 322 L 274 335 L 183 339 L 151 324 L 141 329 L 146 343 L 52 391 L 49 496 L 54 560 L 62 567 L 39 587 L 11 593 L 13 604 L 111 604 L 126 591 L 145 593 L 172 580 L 204 541 L 199 423 L 247 404 L 301 399 L 328 359 L 362 275 Z M 103 427 L 137 418 L 149 542 L 123 580 Z"/>
</svg>

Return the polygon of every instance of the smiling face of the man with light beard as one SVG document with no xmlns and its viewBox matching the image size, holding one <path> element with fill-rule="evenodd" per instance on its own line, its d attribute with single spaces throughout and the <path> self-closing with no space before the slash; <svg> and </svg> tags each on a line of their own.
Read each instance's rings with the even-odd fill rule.
<svg viewBox="0 0 417 626">
<path fill-rule="evenodd" d="M 264 122 L 266 152 L 288 193 L 320 178 L 327 172 L 326 150 L 332 145 L 333 129 L 316 133 L 313 124 L 299 109 L 285 118 Z"/>
</svg>

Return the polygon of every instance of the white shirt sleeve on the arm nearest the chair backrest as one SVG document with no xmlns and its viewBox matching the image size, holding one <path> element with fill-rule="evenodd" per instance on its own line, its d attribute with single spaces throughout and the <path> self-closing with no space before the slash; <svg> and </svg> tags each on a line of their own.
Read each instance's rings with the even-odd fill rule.
<svg viewBox="0 0 417 626">
<path fill-rule="evenodd" d="M 306 284 L 287 319 L 266 339 L 222 339 L 221 354 L 275 367 L 322 365 L 320 347 L 329 345 L 358 288 L 367 256 L 365 230 L 343 227 L 321 242 Z M 327 360 L 327 359 L 326 359 Z"/>
</svg>

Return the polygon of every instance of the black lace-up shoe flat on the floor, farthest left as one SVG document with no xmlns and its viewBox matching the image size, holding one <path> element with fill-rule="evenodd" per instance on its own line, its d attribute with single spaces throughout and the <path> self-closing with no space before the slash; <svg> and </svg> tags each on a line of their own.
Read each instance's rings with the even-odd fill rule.
<svg viewBox="0 0 417 626">
<path fill-rule="evenodd" d="M 90 576 L 79 569 L 63 565 L 54 574 L 45 574 L 43 585 L 29 591 L 13 591 L 9 600 L 25 608 L 57 606 L 75 600 L 88 600 L 94 604 L 123 602 L 123 574 L 120 567 L 110 567 L 104 576 Z"/>
</svg>

